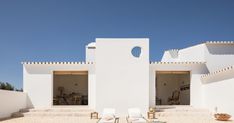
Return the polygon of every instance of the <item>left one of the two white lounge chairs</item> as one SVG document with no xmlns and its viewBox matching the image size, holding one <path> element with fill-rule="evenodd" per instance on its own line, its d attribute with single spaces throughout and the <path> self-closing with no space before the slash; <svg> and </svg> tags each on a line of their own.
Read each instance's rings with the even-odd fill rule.
<svg viewBox="0 0 234 123">
<path fill-rule="evenodd" d="M 102 117 L 97 121 L 98 123 L 118 123 L 119 118 L 115 115 L 115 109 L 105 108 L 102 112 Z"/>
</svg>

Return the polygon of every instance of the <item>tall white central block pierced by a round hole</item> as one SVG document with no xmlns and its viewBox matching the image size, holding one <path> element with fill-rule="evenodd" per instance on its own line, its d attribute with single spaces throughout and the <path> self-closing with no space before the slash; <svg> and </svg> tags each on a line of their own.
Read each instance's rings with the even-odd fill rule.
<svg viewBox="0 0 234 123">
<path fill-rule="evenodd" d="M 135 58 L 132 48 L 142 48 Z M 115 108 L 126 116 L 128 108 L 138 107 L 146 114 L 149 106 L 149 40 L 96 39 L 96 106 Z"/>
</svg>

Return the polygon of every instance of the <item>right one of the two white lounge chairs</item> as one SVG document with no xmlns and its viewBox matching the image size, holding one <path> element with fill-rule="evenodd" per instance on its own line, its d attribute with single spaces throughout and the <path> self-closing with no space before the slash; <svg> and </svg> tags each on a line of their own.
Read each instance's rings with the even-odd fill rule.
<svg viewBox="0 0 234 123">
<path fill-rule="evenodd" d="M 128 123 L 148 123 L 148 121 L 141 114 L 141 110 L 139 108 L 128 109 L 127 122 Z"/>
</svg>

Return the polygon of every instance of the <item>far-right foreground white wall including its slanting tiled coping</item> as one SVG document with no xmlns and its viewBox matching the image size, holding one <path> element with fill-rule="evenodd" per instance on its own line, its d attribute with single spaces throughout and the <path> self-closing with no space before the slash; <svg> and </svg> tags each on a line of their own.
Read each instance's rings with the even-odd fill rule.
<svg viewBox="0 0 234 123">
<path fill-rule="evenodd" d="M 203 106 L 214 112 L 234 115 L 234 69 L 213 73 L 202 79 Z"/>
</svg>

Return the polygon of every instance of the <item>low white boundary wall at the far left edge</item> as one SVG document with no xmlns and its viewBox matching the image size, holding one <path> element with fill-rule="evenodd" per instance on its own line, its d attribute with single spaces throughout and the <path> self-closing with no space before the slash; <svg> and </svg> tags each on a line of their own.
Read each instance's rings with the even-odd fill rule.
<svg viewBox="0 0 234 123">
<path fill-rule="evenodd" d="M 27 94 L 23 92 L 0 89 L 0 99 L 0 119 L 27 107 Z"/>
</svg>

